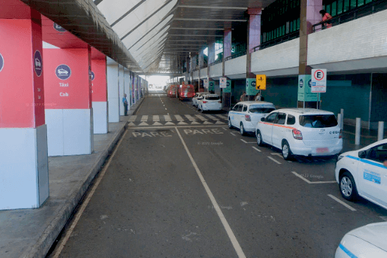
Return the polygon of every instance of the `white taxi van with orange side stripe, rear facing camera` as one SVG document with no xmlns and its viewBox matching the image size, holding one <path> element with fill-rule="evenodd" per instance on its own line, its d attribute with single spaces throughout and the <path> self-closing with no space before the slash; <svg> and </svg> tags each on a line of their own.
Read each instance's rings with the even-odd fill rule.
<svg viewBox="0 0 387 258">
<path fill-rule="evenodd" d="M 333 112 L 314 108 L 288 108 L 271 112 L 255 129 L 258 146 L 267 143 L 293 155 L 329 156 L 343 149 L 343 138 Z"/>
</svg>

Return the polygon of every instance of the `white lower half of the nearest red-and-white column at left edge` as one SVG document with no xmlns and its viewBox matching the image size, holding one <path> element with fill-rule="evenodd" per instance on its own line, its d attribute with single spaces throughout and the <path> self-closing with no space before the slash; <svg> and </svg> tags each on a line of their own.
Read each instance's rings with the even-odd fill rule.
<svg viewBox="0 0 387 258">
<path fill-rule="evenodd" d="M 0 129 L 0 209 L 37 208 L 49 197 L 46 124 Z"/>
</svg>

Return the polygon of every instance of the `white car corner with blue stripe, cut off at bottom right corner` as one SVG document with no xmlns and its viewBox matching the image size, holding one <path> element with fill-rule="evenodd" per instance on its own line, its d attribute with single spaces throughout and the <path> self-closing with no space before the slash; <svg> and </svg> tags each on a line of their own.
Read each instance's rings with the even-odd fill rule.
<svg viewBox="0 0 387 258">
<path fill-rule="evenodd" d="M 387 222 L 368 224 L 345 234 L 337 247 L 335 258 L 387 257 Z"/>
</svg>

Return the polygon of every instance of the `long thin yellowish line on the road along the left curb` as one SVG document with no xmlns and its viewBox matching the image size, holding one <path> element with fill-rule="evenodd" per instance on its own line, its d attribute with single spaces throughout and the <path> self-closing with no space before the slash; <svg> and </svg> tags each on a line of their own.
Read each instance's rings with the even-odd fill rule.
<svg viewBox="0 0 387 258">
<path fill-rule="evenodd" d="M 82 205 L 81 205 L 80 209 L 78 210 L 77 214 L 75 214 L 74 220 L 72 221 L 72 223 L 70 225 L 70 228 L 66 232 L 65 237 L 60 241 L 60 243 L 58 244 L 58 247 L 56 247 L 56 252 L 55 252 L 55 255 L 53 256 L 53 258 L 58 258 L 59 255 L 61 254 L 61 252 L 63 250 L 63 247 L 66 245 L 68 239 L 70 238 L 70 236 L 72 234 L 72 231 L 74 231 L 75 226 L 77 226 L 77 223 L 80 220 L 80 218 L 81 218 L 81 216 L 82 216 L 82 214 L 84 212 L 84 209 L 86 209 L 86 207 L 89 204 L 91 198 L 93 197 L 94 192 L 96 191 L 96 188 L 99 186 L 99 183 L 101 183 L 101 180 L 103 179 L 103 176 L 105 175 L 106 170 L 108 170 L 110 162 L 113 160 L 113 157 L 115 156 L 115 153 L 117 153 L 117 150 L 120 147 L 122 141 L 124 140 L 125 135 L 127 134 L 128 130 L 129 129 L 125 130 L 125 133 L 120 138 L 120 141 L 118 141 L 117 146 L 115 147 L 115 150 L 113 151 L 112 155 L 110 156 L 110 159 L 108 160 L 108 163 L 106 163 L 106 166 L 103 167 L 102 171 L 99 173 L 98 178 L 96 179 L 96 183 L 94 184 L 93 188 L 91 188 L 91 191 L 89 193 L 87 193 L 87 198 L 82 203 Z"/>
</svg>

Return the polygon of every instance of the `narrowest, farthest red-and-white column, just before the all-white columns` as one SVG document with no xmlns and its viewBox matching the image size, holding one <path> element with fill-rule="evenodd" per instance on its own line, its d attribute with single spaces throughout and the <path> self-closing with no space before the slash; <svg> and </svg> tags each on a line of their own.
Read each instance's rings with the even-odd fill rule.
<svg viewBox="0 0 387 258">
<path fill-rule="evenodd" d="M 92 49 L 92 53 L 97 51 Z M 100 52 L 99 52 L 100 53 Z M 107 134 L 108 84 L 106 82 L 106 56 L 91 59 L 91 93 L 93 106 L 94 134 Z"/>
</svg>

